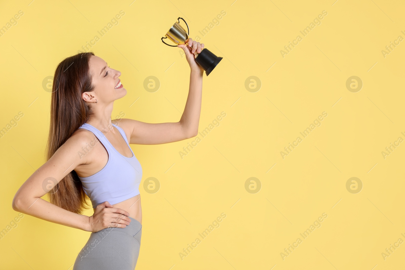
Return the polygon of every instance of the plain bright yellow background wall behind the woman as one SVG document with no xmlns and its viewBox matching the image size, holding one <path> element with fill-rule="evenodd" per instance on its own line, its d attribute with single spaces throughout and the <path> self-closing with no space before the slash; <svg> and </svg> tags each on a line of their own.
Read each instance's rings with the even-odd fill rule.
<svg viewBox="0 0 405 270">
<path fill-rule="evenodd" d="M 64 57 L 124 11 L 92 47 L 122 72 L 128 91 L 112 118 L 124 112 L 175 122 L 190 69 L 181 49 L 160 38 L 183 17 L 194 39 L 223 10 L 220 24 L 200 40 L 224 59 L 204 74 L 199 131 L 222 111 L 226 117 L 183 159 L 179 151 L 194 139 L 132 145 L 143 167 L 136 269 L 401 269 L 404 243 L 385 260 L 381 253 L 405 240 L 404 142 L 385 159 L 382 151 L 405 139 L 405 41 L 386 57 L 381 51 L 405 38 L 404 8 L 399 0 L 2 1 L 0 26 L 19 10 L 24 15 L 0 37 L 0 128 L 19 111 L 24 116 L 0 140 L 0 230 L 18 215 L 15 192 L 45 162 L 50 93 L 42 83 Z M 322 11 L 328 14 L 321 24 L 303 37 L 300 30 Z M 297 35 L 303 39 L 282 57 Z M 159 79 L 158 91 L 144 89 L 148 76 Z M 250 76 L 260 79 L 258 91 L 245 88 Z M 363 83 L 356 93 L 346 88 L 351 76 Z M 283 159 L 280 151 L 324 111 L 321 125 Z M 158 179 L 158 192 L 145 191 L 148 177 Z M 245 189 L 250 177 L 261 183 L 257 193 Z M 362 181 L 359 193 L 346 189 L 351 177 Z M 220 227 L 180 259 L 221 213 Z M 303 239 L 322 213 L 328 216 L 321 227 Z M 0 240 L 2 269 L 72 269 L 90 236 L 29 215 L 16 224 Z M 302 243 L 282 259 L 297 238 Z"/>
</svg>

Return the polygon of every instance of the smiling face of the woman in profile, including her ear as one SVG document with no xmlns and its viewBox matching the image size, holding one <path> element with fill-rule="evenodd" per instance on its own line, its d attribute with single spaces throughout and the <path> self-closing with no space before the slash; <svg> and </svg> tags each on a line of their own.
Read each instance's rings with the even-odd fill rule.
<svg viewBox="0 0 405 270">
<path fill-rule="evenodd" d="M 96 101 L 108 104 L 126 95 L 126 89 L 121 84 L 121 72 L 110 68 L 102 58 L 92 55 L 89 60 L 90 74 L 94 91 L 84 92 L 82 97 L 86 101 Z M 116 86 L 119 86 L 116 88 Z"/>
</svg>

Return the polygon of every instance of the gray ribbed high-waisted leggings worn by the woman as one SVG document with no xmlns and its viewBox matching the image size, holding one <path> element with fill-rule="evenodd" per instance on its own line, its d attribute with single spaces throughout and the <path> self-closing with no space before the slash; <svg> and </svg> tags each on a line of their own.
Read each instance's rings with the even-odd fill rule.
<svg viewBox="0 0 405 270">
<path fill-rule="evenodd" d="M 76 257 L 73 270 L 134 270 L 141 247 L 142 225 L 130 217 L 125 228 L 92 232 Z"/>
</svg>

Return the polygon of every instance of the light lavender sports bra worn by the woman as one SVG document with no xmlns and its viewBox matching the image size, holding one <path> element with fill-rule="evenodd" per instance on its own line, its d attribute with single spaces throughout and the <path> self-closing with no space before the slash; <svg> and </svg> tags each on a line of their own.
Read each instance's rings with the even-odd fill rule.
<svg viewBox="0 0 405 270">
<path fill-rule="evenodd" d="M 117 125 L 113 124 L 113 126 L 121 133 L 128 147 L 131 149 L 124 130 Z M 80 128 L 90 130 L 98 139 L 92 142 L 91 146 L 89 145 L 86 148 L 86 151 L 91 151 L 90 149 L 96 143 L 101 142 L 108 153 L 108 162 L 104 168 L 91 176 L 79 176 L 85 193 L 92 201 L 93 208 L 96 208 L 98 204 L 105 201 L 108 201 L 110 204 L 117 204 L 138 195 L 139 184 L 142 179 L 142 167 L 132 149 L 132 157 L 125 157 L 94 126 L 84 123 Z"/>
</svg>

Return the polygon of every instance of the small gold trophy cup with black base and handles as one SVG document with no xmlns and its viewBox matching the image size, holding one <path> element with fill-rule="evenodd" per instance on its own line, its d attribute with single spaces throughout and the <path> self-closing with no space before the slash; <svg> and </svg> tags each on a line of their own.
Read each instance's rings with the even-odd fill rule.
<svg viewBox="0 0 405 270">
<path fill-rule="evenodd" d="M 183 18 L 181 17 L 177 18 L 175 24 L 173 24 L 173 26 L 166 33 L 165 35 L 166 37 L 161 38 L 164 44 L 168 45 L 166 42 L 163 41 L 163 38 L 169 38 L 177 45 L 188 44 L 187 40 L 190 35 L 190 30 L 188 29 L 188 24 L 185 22 L 185 25 L 187 26 L 187 32 L 185 32 L 185 29 L 180 25 L 180 19 L 182 19 L 185 22 Z M 177 47 L 177 45 L 168 45 L 168 46 Z M 222 57 L 217 57 L 215 54 L 211 53 L 211 51 L 209 51 L 206 48 L 201 49 L 200 53 L 197 53 L 196 51 L 194 53 L 194 58 L 196 60 L 196 63 L 205 70 L 205 74 L 207 76 L 208 74 L 211 73 L 211 71 L 215 68 L 215 66 L 217 66 L 217 64 L 222 60 Z"/>
</svg>

